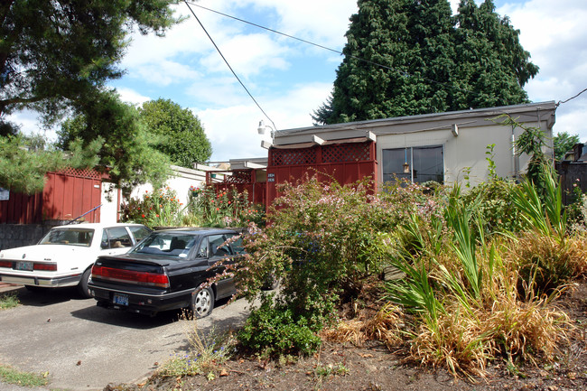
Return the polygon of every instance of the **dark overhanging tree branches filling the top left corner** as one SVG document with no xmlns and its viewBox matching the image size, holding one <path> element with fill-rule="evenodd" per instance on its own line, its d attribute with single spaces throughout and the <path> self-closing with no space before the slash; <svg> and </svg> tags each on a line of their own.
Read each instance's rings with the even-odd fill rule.
<svg viewBox="0 0 587 391">
<path fill-rule="evenodd" d="M 5 0 L 0 5 L 0 121 L 23 107 L 50 121 L 108 79 L 134 27 L 163 34 L 172 0 Z"/>
</svg>

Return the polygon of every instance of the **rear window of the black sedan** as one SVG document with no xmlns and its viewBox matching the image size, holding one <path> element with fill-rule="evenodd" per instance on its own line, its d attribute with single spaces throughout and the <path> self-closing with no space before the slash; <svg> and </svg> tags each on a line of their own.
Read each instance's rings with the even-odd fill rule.
<svg viewBox="0 0 587 391">
<path fill-rule="evenodd" d="M 179 232 L 153 232 L 131 254 L 186 258 L 198 237 Z"/>
</svg>

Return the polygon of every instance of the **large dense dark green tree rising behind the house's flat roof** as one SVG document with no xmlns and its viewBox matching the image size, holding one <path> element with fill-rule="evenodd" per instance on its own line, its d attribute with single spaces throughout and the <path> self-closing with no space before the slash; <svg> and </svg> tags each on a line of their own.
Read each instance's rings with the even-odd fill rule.
<svg viewBox="0 0 587 391">
<path fill-rule="evenodd" d="M 359 0 L 317 124 L 524 103 L 538 71 L 508 18 L 486 0 Z"/>
</svg>

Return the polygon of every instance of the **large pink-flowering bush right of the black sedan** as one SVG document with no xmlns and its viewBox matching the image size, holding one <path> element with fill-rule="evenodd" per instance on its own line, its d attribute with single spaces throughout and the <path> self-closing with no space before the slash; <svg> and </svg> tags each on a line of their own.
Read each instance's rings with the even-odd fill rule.
<svg viewBox="0 0 587 391">
<path fill-rule="evenodd" d="M 377 250 L 385 239 L 383 232 L 415 213 L 427 219 L 441 214 L 437 211 L 440 203 L 429 200 L 433 195 L 426 195 L 426 188 L 419 185 L 397 186 L 379 195 L 373 194 L 369 180 L 341 186 L 313 177 L 298 184 L 285 183 L 278 191 L 281 196 L 275 200 L 267 227 L 249 225 L 243 237 L 247 255 L 235 269 L 239 292 L 249 299 L 258 297 L 267 275 L 281 281 L 282 289 L 275 298 L 262 298 L 247 321 L 247 330 L 266 336 L 270 340 L 265 341 L 266 349 L 275 355 L 292 353 L 295 346 L 283 344 L 282 334 L 283 338 L 287 334 L 305 340 L 307 330 L 316 332 L 333 320 L 334 306 L 340 300 L 353 300 L 369 276 L 381 273 L 387 256 Z M 411 202 L 415 199 L 419 201 Z M 277 312 L 288 315 L 264 321 Z M 298 334 L 277 324 L 286 319 L 304 330 Z M 288 331 L 266 331 L 269 323 L 272 330 Z M 245 345 L 263 345 L 249 334 L 241 336 Z M 288 349 L 275 351 L 282 345 Z M 304 345 L 298 350 L 307 354 L 317 346 Z"/>
</svg>

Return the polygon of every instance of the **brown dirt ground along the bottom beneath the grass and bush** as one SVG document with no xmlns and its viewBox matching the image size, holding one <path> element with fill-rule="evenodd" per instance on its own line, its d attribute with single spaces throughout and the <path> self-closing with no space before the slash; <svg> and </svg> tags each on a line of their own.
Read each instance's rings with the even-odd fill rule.
<svg viewBox="0 0 587 391">
<path fill-rule="evenodd" d="M 529 365 L 512 373 L 505 362 L 498 362 L 488 368 L 487 377 L 475 382 L 455 378 L 443 368 L 406 364 L 401 355 L 380 344 L 355 347 L 325 342 L 320 352 L 293 364 L 241 357 L 224 364 L 213 380 L 155 375 L 141 385 L 108 385 L 104 390 L 587 390 L 587 282 L 574 285 L 556 305 L 568 313 L 574 327 L 554 364 Z"/>
</svg>

